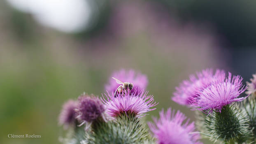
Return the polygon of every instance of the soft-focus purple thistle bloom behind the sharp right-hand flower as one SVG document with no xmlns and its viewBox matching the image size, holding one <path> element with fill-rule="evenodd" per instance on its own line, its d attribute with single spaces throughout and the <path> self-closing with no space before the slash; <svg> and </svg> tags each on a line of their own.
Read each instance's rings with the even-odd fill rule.
<svg viewBox="0 0 256 144">
<path fill-rule="evenodd" d="M 225 79 L 225 72 L 223 70 L 216 70 L 213 74 L 212 69 L 202 70 L 202 72 L 190 76 L 190 80 L 183 81 L 179 87 L 176 87 L 175 93 L 173 93 L 172 100 L 180 105 L 191 106 L 196 103 L 199 92 L 204 88 L 216 81 Z"/>
</svg>

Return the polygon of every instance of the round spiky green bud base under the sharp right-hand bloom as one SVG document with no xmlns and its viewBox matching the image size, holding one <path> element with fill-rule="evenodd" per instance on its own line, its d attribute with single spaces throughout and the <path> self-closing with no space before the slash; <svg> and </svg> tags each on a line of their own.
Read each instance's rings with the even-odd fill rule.
<svg viewBox="0 0 256 144">
<path fill-rule="evenodd" d="M 226 105 L 205 118 L 205 132 L 213 141 L 246 142 L 250 136 L 246 112 L 235 105 Z"/>
</svg>

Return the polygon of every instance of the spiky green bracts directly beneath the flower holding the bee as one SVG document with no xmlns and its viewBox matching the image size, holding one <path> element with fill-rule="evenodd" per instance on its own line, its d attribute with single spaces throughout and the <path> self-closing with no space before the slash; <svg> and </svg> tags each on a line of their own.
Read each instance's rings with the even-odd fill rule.
<svg viewBox="0 0 256 144">
<path fill-rule="evenodd" d="M 93 144 L 143 144 L 147 142 L 145 125 L 133 113 L 123 113 L 114 121 L 92 124 Z"/>
</svg>

